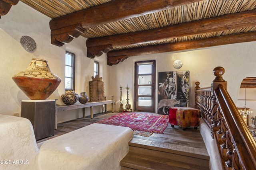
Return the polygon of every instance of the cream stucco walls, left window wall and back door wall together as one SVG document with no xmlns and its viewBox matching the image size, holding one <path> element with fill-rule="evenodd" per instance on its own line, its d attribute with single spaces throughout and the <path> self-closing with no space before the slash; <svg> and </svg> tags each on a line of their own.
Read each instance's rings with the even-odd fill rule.
<svg viewBox="0 0 256 170">
<path fill-rule="evenodd" d="M 86 57 L 86 38 L 80 36 L 63 47 L 57 47 L 50 43 L 50 18 L 40 14 L 29 6 L 19 2 L 13 6 L 6 16 L 0 19 L 0 97 L 1 114 L 13 115 L 20 113 L 21 100 L 28 99 L 16 86 L 12 76 L 24 70 L 32 58 L 41 58 L 48 61 L 50 69 L 63 81 L 49 99 L 57 98 L 57 104 L 62 105 L 61 94 L 64 88 L 64 56 L 65 51 L 76 54 L 76 93 L 87 92 L 89 94 L 88 81 L 93 76 L 94 59 Z M 20 37 L 28 35 L 37 43 L 37 50 L 28 53 L 20 45 Z M 105 95 L 114 95 L 116 100 L 115 110 L 119 108 L 120 89 L 118 86 L 130 87 L 130 104 L 134 109 L 134 63 L 136 61 L 156 60 L 156 83 L 158 84 L 158 72 L 176 70 L 172 63 L 179 59 L 183 62 L 180 70 L 190 71 L 190 106 L 194 106 L 195 82 L 200 82 L 200 87 L 210 86 L 214 79 L 212 70 L 216 66 L 226 69 L 224 79 L 228 81 L 228 91 L 234 101 L 238 99 L 240 83 L 243 78 L 256 76 L 256 42 L 223 45 L 212 48 L 197 49 L 179 53 L 161 53 L 129 57 L 118 65 L 107 66 L 106 54 L 96 57 L 100 63 L 100 76 L 105 84 Z M 156 89 L 156 92 L 158 89 Z M 123 90 L 123 104 L 126 104 L 126 90 Z M 157 108 L 157 95 L 156 95 Z M 100 112 L 101 107 L 94 108 Z M 86 115 L 89 115 L 89 108 Z M 58 113 L 58 122 L 82 117 L 81 110 L 62 111 Z"/>
</svg>

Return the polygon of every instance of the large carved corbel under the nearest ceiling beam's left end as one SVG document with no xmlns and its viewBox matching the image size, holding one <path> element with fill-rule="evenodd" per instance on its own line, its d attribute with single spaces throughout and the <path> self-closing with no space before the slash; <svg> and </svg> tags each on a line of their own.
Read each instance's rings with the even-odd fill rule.
<svg viewBox="0 0 256 170">
<path fill-rule="evenodd" d="M 51 43 L 61 47 L 64 43 L 70 43 L 74 38 L 79 37 L 86 29 L 80 24 L 55 29 L 51 31 Z"/>
</svg>

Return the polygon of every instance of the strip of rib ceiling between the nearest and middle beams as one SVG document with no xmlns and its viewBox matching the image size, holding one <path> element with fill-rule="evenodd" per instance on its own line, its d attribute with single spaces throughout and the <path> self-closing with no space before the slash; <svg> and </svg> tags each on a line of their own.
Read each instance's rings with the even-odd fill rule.
<svg viewBox="0 0 256 170">
<path fill-rule="evenodd" d="M 86 38 L 144 31 L 225 14 L 256 10 L 256 0 L 203 0 L 153 14 L 87 28 Z"/>
</svg>

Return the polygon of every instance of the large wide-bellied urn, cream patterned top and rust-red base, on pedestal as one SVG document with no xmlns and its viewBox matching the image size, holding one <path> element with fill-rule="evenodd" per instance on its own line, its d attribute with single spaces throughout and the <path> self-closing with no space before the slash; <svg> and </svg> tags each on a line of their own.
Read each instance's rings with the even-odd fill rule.
<svg viewBox="0 0 256 170">
<path fill-rule="evenodd" d="M 48 98 L 61 82 L 42 59 L 32 59 L 26 70 L 15 74 L 12 80 L 31 100 Z"/>
</svg>

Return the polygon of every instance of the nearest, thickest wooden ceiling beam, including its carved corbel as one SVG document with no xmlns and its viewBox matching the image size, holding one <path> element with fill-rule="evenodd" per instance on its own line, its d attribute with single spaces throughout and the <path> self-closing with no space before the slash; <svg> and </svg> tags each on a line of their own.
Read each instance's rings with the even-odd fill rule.
<svg viewBox="0 0 256 170">
<path fill-rule="evenodd" d="M 78 37 L 88 27 L 134 18 L 198 1 L 201 0 L 115 0 L 52 19 L 50 21 L 51 41 L 54 45 L 62 46 L 64 42 L 70 42 L 74 34 Z M 74 25 L 79 27 L 79 31 L 74 30 L 76 29 Z M 81 28 L 83 28 L 82 31 Z"/>
</svg>

